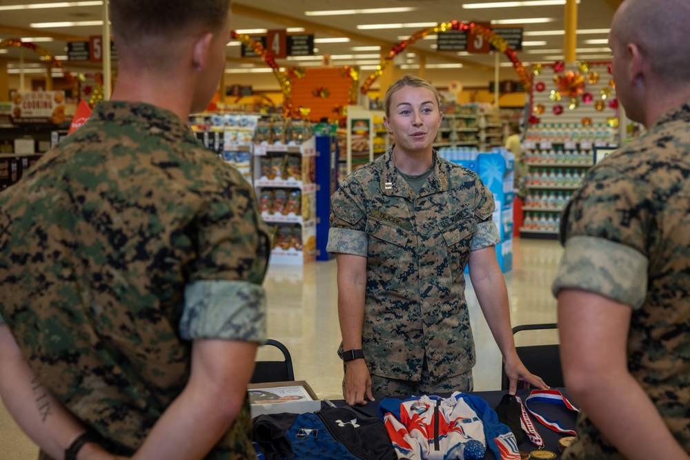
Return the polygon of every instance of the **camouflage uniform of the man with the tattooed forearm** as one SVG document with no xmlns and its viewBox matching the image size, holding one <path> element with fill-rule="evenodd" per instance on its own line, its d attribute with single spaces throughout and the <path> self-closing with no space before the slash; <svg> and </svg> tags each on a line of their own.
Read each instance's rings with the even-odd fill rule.
<svg viewBox="0 0 690 460">
<path fill-rule="evenodd" d="M 172 112 L 103 101 L 0 194 L 0 313 L 42 383 L 130 452 L 188 379 L 183 312 L 190 338 L 265 339 L 259 216 L 242 175 Z M 215 327 L 199 309 L 218 321 L 218 299 L 185 295 L 209 285 L 237 294 Z M 253 457 L 250 424 L 245 401 L 207 458 Z"/>
</svg>

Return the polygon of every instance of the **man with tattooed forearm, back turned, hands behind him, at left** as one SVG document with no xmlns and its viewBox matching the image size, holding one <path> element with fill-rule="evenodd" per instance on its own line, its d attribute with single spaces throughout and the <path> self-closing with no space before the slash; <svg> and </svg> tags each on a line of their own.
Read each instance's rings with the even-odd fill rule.
<svg viewBox="0 0 690 460">
<path fill-rule="evenodd" d="M 268 233 L 186 125 L 230 2 L 110 0 L 110 19 L 112 101 L 0 196 L 2 399 L 55 459 L 254 457 Z"/>
</svg>

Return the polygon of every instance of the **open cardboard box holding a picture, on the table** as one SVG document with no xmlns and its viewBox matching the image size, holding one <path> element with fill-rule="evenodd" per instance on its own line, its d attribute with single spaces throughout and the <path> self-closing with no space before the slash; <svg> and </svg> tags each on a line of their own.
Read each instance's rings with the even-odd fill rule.
<svg viewBox="0 0 690 460">
<path fill-rule="evenodd" d="M 263 414 L 304 414 L 321 409 L 321 400 L 304 380 L 288 382 L 250 383 L 252 418 Z"/>
</svg>

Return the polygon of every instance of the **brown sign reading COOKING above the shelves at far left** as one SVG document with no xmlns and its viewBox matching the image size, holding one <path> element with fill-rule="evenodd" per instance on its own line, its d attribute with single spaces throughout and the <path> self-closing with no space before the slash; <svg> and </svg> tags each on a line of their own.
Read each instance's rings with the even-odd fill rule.
<svg viewBox="0 0 690 460">
<path fill-rule="evenodd" d="M 59 125 L 64 120 L 64 91 L 30 91 L 12 94 L 13 123 L 52 123 Z"/>
</svg>

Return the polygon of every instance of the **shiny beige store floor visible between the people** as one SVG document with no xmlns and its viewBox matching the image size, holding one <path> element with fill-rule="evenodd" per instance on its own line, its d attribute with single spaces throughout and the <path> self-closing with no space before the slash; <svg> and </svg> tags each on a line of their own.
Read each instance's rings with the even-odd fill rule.
<svg viewBox="0 0 690 460">
<path fill-rule="evenodd" d="M 551 281 L 562 248 L 556 241 L 516 238 L 513 252 L 513 270 L 506 274 L 513 326 L 555 322 Z M 295 379 L 307 381 L 319 397 L 329 399 L 342 399 L 342 362 L 336 354 L 340 342 L 336 270 L 335 260 L 309 263 L 304 268 L 270 266 L 264 283 L 268 292 L 268 336 L 290 350 Z M 470 283 L 466 297 L 477 347 L 475 390 L 498 390 L 501 355 Z M 520 332 L 515 340 L 517 345 L 529 345 L 555 341 L 557 337 L 554 331 L 540 335 Z M 276 356 L 272 350 L 259 351 L 259 358 Z M 35 460 L 37 452 L 0 404 L 0 460 Z"/>
</svg>

